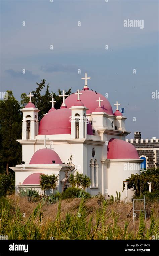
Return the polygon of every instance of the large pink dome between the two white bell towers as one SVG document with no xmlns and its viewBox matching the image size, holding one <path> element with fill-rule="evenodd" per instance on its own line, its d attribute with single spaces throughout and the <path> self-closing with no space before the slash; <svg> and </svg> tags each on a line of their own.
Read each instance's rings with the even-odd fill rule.
<svg viewBox="0 0 159 256">
<path fill-rule="evenodd" d="M 93 135 L 91 127 L 87 124 L 87 134 Z M 71 134 L 71 110 L 60 108 L 45 115 L 39 124 L 38 135 L 46 134 Z"/>
</svg>

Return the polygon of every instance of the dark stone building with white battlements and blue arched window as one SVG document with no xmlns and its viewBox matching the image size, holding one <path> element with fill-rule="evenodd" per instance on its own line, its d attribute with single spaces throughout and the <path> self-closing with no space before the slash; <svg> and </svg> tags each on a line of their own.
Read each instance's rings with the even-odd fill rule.
<svg viewBox="0 0 159 256">
<path fill-rule="evenodd" d="M 152 169 L 159 167 L 159 140 L 156 137 L 152 139 L 141 139 L 141 132 L 134 132 L 134 139 L 126 139 L 136 147 L 140 159 L 143 159 L 142 168 Z"/>
</svg>

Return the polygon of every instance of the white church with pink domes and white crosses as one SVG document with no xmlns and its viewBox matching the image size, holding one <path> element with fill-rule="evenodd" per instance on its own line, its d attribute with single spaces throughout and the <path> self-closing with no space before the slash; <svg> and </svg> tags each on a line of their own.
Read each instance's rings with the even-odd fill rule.
<svg viewBox="0 0 159 256">
<path fill-rule="evenodd" d="M 15 171 L 16 192 L 20 188 L 39 190 L 40 174 L 59 175 L 57 190 L 63 191 L 66 163 L 73 156 L 71 171 L 87 174 L 91 186 L 86 189 L 91 195 L 99 192 L 121 199 L 131 198 L 134 191 L 123 190 L 123 182 L 132 173 L 140 174 L 140 163 L 136 148 L 125 141 L 130 133 L 125 129 L 126 117 L 118 110 L 118 102 L 112 106 L 107 98 L 90 90 L 87 85 L 70 96 L 63 91 L 60 109 L 52 108 L 38 122 L 40 111 L 31 103 L 21 110 L 23 113 L 22 164 L 10 167 Z M 65 97 L 68 96 L 66 99 Z M 49 103 L 48 103 L 49 104 Z M 69 186 L 69 179 L 66 183 Z M 127 183 L 125 183 L 127 188 Z"/>
</svg>

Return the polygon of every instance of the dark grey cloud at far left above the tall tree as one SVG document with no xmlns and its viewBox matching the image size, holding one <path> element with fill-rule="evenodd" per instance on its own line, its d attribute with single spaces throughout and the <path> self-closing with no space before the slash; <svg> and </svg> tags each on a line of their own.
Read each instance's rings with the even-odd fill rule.
<svg viewBox="0 0 159 256">
<path fill-rule="evenodd" d="M 32 80 L 32 79 L 38 79 L 39 75 L 34 75 L 32 71 L 25 70 L 25 74 L 22 73 L 22 71 L 15 71 L 13 69 L 7 69 L 5 70 L 6 73 L 10 74 L 10 76 L 15 77 L 15 78 L 24 78 L 27 80 Z"/>
</svg>

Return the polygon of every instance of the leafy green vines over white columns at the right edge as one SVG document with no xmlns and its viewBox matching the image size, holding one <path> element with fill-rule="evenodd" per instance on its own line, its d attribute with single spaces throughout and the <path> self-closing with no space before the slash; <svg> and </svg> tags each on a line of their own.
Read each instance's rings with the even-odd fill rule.
<svg viewBox="0 0 159 256">
<path fill-rule="evenodd" d="M 140 196 L 145 192 L 149 191 L 148 182 L 152 182 L 151 190 L 152 192 L 158 192 L 159 194 L 159 170 L 146 170 L 143 173 L 132 174 L 131 177 L 126 179 L 128 181 L 128 188 L 133 188 L 135 195 Z M 123 190 L 125 189 L 125 184 L 123 183 Z"/>
</svg>

